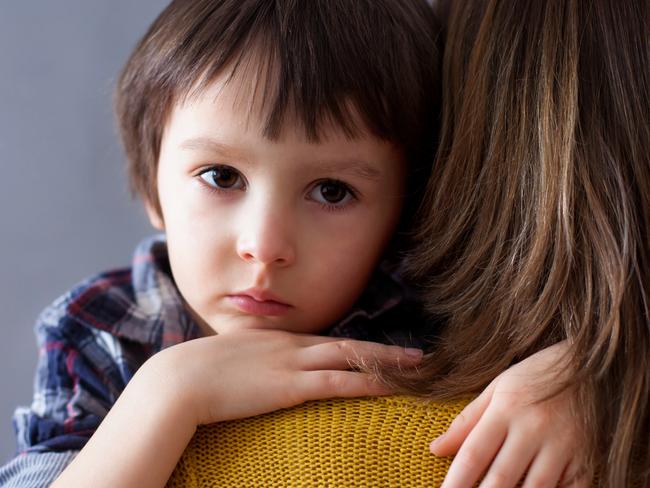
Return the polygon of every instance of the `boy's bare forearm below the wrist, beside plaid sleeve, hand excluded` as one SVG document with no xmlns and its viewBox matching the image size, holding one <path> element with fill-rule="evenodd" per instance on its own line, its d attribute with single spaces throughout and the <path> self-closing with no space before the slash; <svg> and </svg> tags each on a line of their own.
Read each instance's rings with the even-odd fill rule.
<svg viewBox="0 0 650 488">
<path fill-rule="evenodd" d="M 196 426 L 148 363 L 52 485 L 164 486 Z"/>
</svg>

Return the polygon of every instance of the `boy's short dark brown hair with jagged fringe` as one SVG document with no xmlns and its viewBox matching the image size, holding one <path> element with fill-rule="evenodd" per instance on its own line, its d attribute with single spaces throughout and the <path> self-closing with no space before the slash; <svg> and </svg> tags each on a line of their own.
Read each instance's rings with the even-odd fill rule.
<svg viewBox="0 0 650 488">
<path fill-rule="evenodd" d="M 172 1 L 116 90 L 133 190 L 160 210 L 156 170 L 171 108 L 224 72 L 232 80 L 251 69 L 262 80 L 266 137 L 278 137 L 287 110 L 310 140 L 326 123 L 350 137 L 367 128 L 405 150 L 412 182 L 421 181 L 436 130 L 438 31 L 426 0 Z"/>
</svg>

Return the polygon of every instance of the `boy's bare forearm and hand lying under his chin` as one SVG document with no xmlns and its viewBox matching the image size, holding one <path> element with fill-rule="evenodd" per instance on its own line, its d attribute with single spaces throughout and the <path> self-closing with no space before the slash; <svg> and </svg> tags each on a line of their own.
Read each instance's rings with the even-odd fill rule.
<svg viewBox="0 0 650 488">
<path fill-rule="evenodd" d="M 161 487 L 197 425 L 307 400 L 387 391 L 351 361 L 402 366 L 418 354 L 382 344 L 281 331 L 205 337 L 149 359 L 55 487 Z"/>
</svg>

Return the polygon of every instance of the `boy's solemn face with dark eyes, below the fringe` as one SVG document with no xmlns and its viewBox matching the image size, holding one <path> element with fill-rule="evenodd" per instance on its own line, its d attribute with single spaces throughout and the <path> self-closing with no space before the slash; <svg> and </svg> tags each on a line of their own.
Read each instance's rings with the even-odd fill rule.
<svg viewBox="0 0 650 488">
<path fill-rule="evenodd" d="M 217 80 L 174 107 L 158 194 L 172 273 L 206 334 L 317 333 L 363 291 L 397 224 L 405 161 L 388 142 L 291 122 L 277 141 Z M 241 90 L 240 90 L 241 91 Z"/>
</svg>

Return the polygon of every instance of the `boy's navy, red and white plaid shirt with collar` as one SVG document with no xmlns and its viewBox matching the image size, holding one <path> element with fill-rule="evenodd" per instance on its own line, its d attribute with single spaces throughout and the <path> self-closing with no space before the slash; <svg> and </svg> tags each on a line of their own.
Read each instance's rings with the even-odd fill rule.
<svg viewBox="0 0 650 488">
<path fill-rule="evenodd" d="M 406 303 L 399 281 L 378 269 L 353 309 L 325 334 L 421 346 L 397 327 L 411 322 L 403 315 Z M 200 329 L 171 277 L 164 237 L 155 236 L 138 246 L 130 268 L 102 273 L 55 301 L 39 317 L 36 335 L 34 399 L 14 415 L 19 455 L 0 468 L 0 486 L 20 473 L 16 461 L 34 454 L 66 453 L 60 472 L 137 369 L 162 349 L 199 337 Z"/>
</svg>

